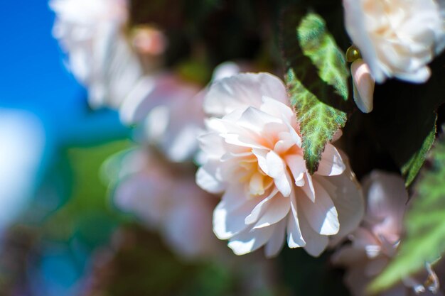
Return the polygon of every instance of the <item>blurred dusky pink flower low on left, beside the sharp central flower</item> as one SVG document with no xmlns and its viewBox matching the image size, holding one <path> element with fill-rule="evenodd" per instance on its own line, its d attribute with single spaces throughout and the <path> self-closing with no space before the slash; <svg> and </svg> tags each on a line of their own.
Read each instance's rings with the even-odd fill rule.
<svg viewBox="0 0 445 296">
<path fill-rule="evenodd" d="M 193 167 L 171 167 L 161 159 L 140 149 L 108 160 L 103 170 L 116 179 L 114 204 L 159 231 L 184 258 L 214 254 L 218 240 L 210 225 L 215 197 L 195 185 Z"/>
</svg>

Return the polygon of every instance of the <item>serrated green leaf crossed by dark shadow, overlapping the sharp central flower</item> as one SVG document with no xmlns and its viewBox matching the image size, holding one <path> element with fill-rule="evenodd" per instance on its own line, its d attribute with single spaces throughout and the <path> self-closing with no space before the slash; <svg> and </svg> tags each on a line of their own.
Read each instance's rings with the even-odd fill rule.
<svg viewBox="0 0 445 296">
<path fill-rule="evenodd" d="M 313 173 L 326 143 L 345 126 L 349 71 L 321 16 L 286 11 L 281 33 L 285 80 L 299 121 L 306 167 Z"/>
</svg>

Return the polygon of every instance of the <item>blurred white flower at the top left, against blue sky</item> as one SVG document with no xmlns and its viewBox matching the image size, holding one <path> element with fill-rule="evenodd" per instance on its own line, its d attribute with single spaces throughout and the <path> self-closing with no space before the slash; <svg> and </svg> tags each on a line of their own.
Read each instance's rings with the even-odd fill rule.
<svg viewBox="0 0 445 296">
<path fill-rule="evenodd" d="M 139 83 L 144 69 L 124 29 L 126 0 L 52 0 L 53 35 L 68 64 L 88 89 L 94 107 L 117 108 Z"/>
</svg>

